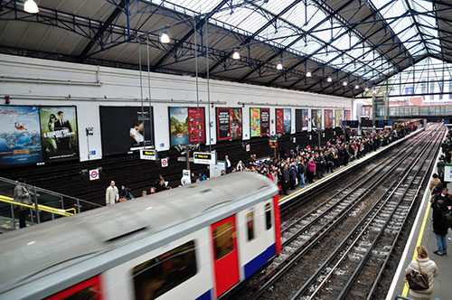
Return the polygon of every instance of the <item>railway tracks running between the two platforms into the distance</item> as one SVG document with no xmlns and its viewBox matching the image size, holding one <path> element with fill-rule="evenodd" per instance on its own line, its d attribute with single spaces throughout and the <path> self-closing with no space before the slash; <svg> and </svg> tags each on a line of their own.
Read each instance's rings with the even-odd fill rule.
<svg viewBox="0 0 452 300">
<path fill-rule="evenodd" d="M 365 289 L 358 278 L 370 275 L 376 277 L 364 294 L 372 295 L 428 173 L 430 165 L 421 163 L 438 147 L 441 135 L 439 130 L 434 132 L 435 136 L 419 134 L 410 147 L 401 148 L 371 173 L 285 226 L 283 251 L 250 280 L 240 298 L 327 299 L 347 295 L 347 299 L 363 299 Z"/>
</svg>

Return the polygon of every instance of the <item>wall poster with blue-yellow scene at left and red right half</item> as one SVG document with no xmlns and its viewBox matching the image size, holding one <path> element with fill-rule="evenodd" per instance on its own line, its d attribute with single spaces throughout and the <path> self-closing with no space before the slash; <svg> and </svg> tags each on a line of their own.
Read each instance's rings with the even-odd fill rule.
<svg viewBox="0 0 452 300">
<path fill-rule="evenodd" d="M 204 108 L 169 108 L 170 142 L 187 145 L 205 142 Z"/>
</svg>

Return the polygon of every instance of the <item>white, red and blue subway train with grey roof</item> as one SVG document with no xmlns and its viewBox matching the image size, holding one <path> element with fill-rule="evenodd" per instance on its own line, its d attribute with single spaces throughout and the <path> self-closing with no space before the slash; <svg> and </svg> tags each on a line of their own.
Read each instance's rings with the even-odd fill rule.
<svg viewBox="0 0 452 300">
<path fill-rule="evenodd" d="M 231 173 L 0 239 L 0 299 L 216 299 L 281 250 L 278 187 Z"/>
</svg>

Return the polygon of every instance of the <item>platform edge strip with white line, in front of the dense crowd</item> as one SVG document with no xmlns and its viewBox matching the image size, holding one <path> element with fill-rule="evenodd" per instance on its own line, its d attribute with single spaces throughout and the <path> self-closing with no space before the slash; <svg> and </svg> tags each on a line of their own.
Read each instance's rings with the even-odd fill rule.
<svg viewBox="0 0 452 300">
<path fill-rule="evenodd" d="M 324 173 L 324 177 L 321 179 L 316 179 L 314 183 L 310 183 L 310 184 L 306 184 L 306 187 L 301 188 L 299 185 L 297 185 L 297 188 L 293 191 L 290 191 L 290 194 L 288 194 L 287 196 L 281 196 L 281 198 L 279 199 L 279 206 L 281 205 L 285 205 L 287 202 L 290 202 L 291 200 L 298 198 L 300 196 L 303 196 L 303 194 L 308 193 L 308 192 L 312 192 L 313 190 L 319 188 L 320 186 L 322 186 L 324 183 L 334 180 L 335 177 L 341 176 L 342 173 L 348 172 L 351 169 L 354 169 L 356 167 L 359 167 L 362 164 L 366 164 L 368 161 L 372 160 L 373 157 L 375 157 L 376 155 L 380 155 L 381 152 L 385 152 L 388 151 L 389 149 L 391 149 L 393 146 L 398 145 L 400 143 L 402 143 L 403 141 L 409 139 L 411 136 L 413 135 L 417 135 L 419 134 L 419 132 L 425 130 L 424 127 L 420 127 L 418 130 L 413 131 L 412 133 L 410 133 L 410 135 L 405 136 L 400 138 L 400 140 L 395 141 L 389 145 L 385 145 L 382 146 L 381 148 L 379 148 L 377 151 L 373 151 L 370 154 L 364 155 L 363 157 L 354 160 L 352 163 L 344 165 L 336 170 L 334 170 L 333 173 Z"/>
</svg>

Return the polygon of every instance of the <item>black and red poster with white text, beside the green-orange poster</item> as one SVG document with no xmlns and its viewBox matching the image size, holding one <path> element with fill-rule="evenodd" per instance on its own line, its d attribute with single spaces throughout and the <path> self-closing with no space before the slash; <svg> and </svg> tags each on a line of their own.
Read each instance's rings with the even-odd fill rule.
<svg viewBox="0 0 452 300">
<path fill-rule="evenodd" d="M 217 108 L 217 140 L 241 138 L 241 108 Z"/>
</svg>

